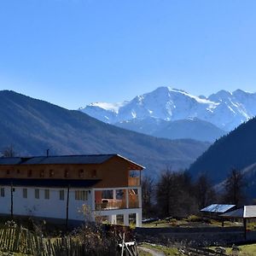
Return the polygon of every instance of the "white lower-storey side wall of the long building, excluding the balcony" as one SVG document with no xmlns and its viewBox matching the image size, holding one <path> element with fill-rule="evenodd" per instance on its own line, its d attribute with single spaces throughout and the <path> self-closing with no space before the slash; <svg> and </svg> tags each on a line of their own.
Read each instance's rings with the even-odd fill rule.
<svg viewBox="0 0 256 256">
<path fill-rule="evenodd" d="M 0 196 L 0 213 L 10 214 L 11 193 L 10 187 L 4 188 L 4 197 Z M 14 187 L 14 215 L 66 218 L 67 189 L 64 189 L 64 200 L 60 200 L 60 190 L 56 188 L 27 188 L 27 198 L 23 198 L 23 187 Z M 39 189 L 39 199 L 35 198 L 35 189 Z M 49 189 L 49 199 L 44 198 L 44 189 Z M 75 190 L 87 190 L 88 200 L 75 200 Z M 91 207 L 91 195 L 88 189 L 70 189 L 69 192 L 69 219 L 83 220 L 79 208 L 84 204 Z"/>
</svg>

